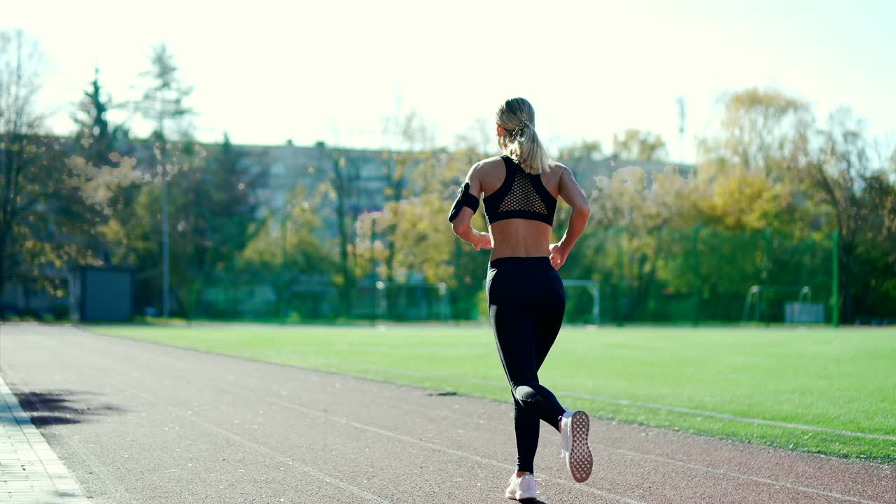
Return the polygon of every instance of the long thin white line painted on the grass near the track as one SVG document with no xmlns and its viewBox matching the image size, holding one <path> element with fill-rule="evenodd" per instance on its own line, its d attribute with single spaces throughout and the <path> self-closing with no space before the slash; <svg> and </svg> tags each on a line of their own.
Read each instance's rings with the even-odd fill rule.
<svg viewBox="0 0 896 504">
<path fill-rule="evenodd" d="M 280 353 L 280 355 L 283 355 L 283 353 Z M 353 368 L 353 369 L 369 369 L 369 370 L 386 371 L 386 372 L 392 372 L 392 373 L 404 374 L 404 375 L 410 375 L 410 376 L 446 378 L 446 379 L 452 379 L 452 380 L 462 381 L 462 382 L 466 382 L 466 383 L 475 383 L 477 385 L 488 385 L 488 386 L 492 386 L 492 387 L 510 387 L 506 383 L 499 383 L 496 381 L 483 380 L 483 379 L 477 379 L 477 378 L 458 377 L 458 376 L 453 376 L 453 375 L 443 374 L 443 373 L 431 373 L 431 372 L 423 372 L 423 371 L 414 371 L 414 370 L 410 370 L 410 369 L 388 368 L 388 367 L 382 367 L 382 366 L 366 366 L 363 364 L 346 364 L 344 362 L 336 361 L 333 359 L 319 359 L 319 358 L 309 359 L 307 357 L 303 357 L 303 358 L 308 361 L 321 361 L 321 362 L 340 364 L 347 368 Z M 318 370 L 318 369 L 312 369 L 312 368 L 307 368 L 307 369 Z M 728 414 L 728 413 L 708 412 L 708 411 L 704 411 L 704 410 L 695 410 L 693 408 L 670 406 L 668 404 L 642 403 L 639 401 L 630 401 L 628 399 L 616 399 L 614 397 L 607 397 L 604 395 L 580 394 L 578 392 L 567 392 L 564 390 L 555 390 L 554 393 L 556 395 L 566 395 L 567 397 L 575 397 L 578 399 L 590 399 L 593 401 L 601 401 L 604 403 L 611 403 L 611 404 L 621 404 L 624 406 L 641 406 L 644 408 L 664 410 L 664 411 L 676 412 L 676 413 L 689 413 L 689 414 L 694 414 L 694 415 L 699 415 L 699 416 L 709 416 L 709 417 L 713 417 L 713 418 L 720 418 L 723 420 L 730 420 L 730 421 L 743 421 L 743 422 L 747 422 L 747 423 L 755 423 L 755 424 L 759 424 L 759 425 L 772 425 L 775 427 L 784 427 L 784 428 L 788 428 L 788 429 L 814 430 L 814 431 L 818 431 L 818 432 L 829 432 L 831 434 L 840 434 L 841 436 L 853 436 L 853 437 L 857 437 L 857 438 L 885 439 L 885 440 L 889 440 L 889 441 L 896 441 L 896 436 L 888 436 L 885 434 L 868 434 L 866 432 L 855 432 L 852 430 L 830 429 L 827 427 L 818 427 L 815 425 L 804 425 L 801 423 L 788 423 L 785 421 L 763 420 L 761 418 L 737 416 L 737 415 Z"/>
</svg>

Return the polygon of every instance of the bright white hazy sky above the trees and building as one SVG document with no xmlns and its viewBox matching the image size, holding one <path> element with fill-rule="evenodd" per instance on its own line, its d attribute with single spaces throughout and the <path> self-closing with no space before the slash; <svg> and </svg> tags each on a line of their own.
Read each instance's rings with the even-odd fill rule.
<svg viewBox="0 0 896 504">
<path fill-rule="evenodd" d="M 211 142 L 226 131 L 235 143 L 381 147 L 383 117 L 417 109 L 450 144 L 523 96 L 549 148 L 586 138 L 608 150 L 637 127 L 678 159 L 684 96 L 692 161 L 719 93 L 754 85 L 797 94 L 821 119 L 849 105 L 872 134 L 896 133 L 892 0 L 30 0 L 3 11 L 0 30 L 24 30 L 46 55 L 40 100 L 59 134 L 73 130 L 94 66 L 114 100 L 133 99 L 159 42 L 194 85 L 197 136 Z"/>
</svg>

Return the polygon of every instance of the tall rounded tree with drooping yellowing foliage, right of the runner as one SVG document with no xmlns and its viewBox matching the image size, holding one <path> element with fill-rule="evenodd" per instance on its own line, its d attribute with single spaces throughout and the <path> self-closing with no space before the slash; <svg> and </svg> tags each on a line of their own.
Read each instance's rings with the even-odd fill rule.
<svg viewBox="0 0 896 504">
<path fill-rule="evenodd" d="M 769 237 L 807 238 L 808 211 L 796 179 L 811 109 L 780 91 L 758 88 L 724 100 L 719 135 L 699 142 L 691 199 L 694 225 L 704 230 L 701 242 L 718 250 L 700 254 L 703 269 L 716 272 L 706 278 L 705 300 L 739 296 L 756 283 L 785 283 L 780 279 L 788 276 L 788 257 L 775 256 Z"/>
</svg>

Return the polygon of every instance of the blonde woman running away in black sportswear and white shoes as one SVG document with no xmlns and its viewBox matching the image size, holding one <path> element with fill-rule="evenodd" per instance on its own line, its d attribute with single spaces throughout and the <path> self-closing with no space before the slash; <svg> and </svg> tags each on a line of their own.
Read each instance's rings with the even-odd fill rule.
<svg viewBox="0 0 896 504">
<path fill-rule="evenodd" d="M 535 132 L 535 110 L 529 101 L 505 101 L 495 122 L 503 155 L 473 165 L 448 220 L 454 234 L 474 248 L 491 249 L 488 316 L 513 393 L 516 432 L 517 472 L 505 495 L 513 500 L 535 499 L 533 461 L 539 420 L 560 433 L 573 480 L 587 480 L 593 465 L 588 414 L 565 410 L 538 383 L 538 369 L 556 340 L 566 307 L 563 281 L 556 270 L 585 229 L 590 210 L 573 172 L 548 159 Z M 489 232 L 478 232 L 470 225 L 482 195 Z M 552 244 L 557 196 L 573 213 L 563 239 Z"/>
</svg>

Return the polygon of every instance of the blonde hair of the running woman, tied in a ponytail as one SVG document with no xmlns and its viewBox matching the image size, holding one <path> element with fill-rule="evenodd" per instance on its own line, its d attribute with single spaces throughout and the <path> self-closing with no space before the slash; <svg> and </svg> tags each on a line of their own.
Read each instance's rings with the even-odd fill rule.
<svg viewBox="0 0 896 504">
<path fill-rule="evenodd" d="M 529 100 L 504 101 L 495 114 L 495 122 L 504 129 L 504 135 L 498 137 L 504 154 L 533 175 L 550 171 L 551 160 L 535 133 L 535 109 Z"/>
</svg>

